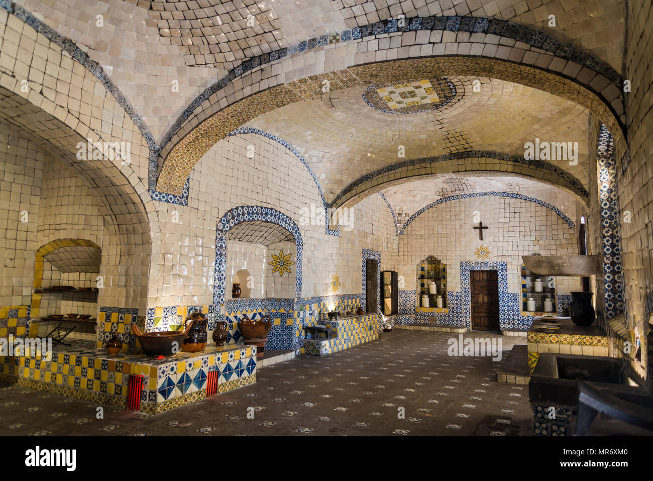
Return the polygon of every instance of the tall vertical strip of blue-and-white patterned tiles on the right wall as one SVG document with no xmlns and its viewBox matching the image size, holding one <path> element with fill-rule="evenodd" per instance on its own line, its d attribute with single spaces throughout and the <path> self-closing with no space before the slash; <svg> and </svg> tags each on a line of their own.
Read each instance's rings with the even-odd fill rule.
<svg viewBox="0 0 653 481">
<path fill-rule="evenodd" d="M 603 296 L 607 320 L 624 313 L 624 278 L 614 140 L 601 124 L 597 146 L 597 182 L 603 239 Z"/>
</svg>

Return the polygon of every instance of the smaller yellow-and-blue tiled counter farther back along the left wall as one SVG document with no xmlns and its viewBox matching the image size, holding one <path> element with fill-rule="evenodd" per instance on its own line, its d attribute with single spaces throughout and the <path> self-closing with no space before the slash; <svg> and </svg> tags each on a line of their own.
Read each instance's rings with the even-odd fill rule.
<svg viewBox="0 0 653 481">
<path fill-rule="evenodd" d="M 318 324 L 331 328 L 331 339 L 325 339 L 323 334 L 317 339 L 304 339 L 300 352 L 312 356 L 327 356 L 363 342 L 379 339 L 379 322 L 378 314 L 350 316 L 337 321 L 318 321 Z"/>
</svg>

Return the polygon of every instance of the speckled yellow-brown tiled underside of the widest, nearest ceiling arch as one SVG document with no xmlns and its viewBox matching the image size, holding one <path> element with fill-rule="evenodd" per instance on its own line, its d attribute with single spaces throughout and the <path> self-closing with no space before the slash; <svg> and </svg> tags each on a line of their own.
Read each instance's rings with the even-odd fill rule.
<svg viewBox="0 0 653 481">
<path fill-rule="evenodd" d="M 253 93 L 240 101 L 227 103 L 223 99 L 212 104 L 210 110 L 202 112 L 201 120 L 196 119 L 195 125 L 191 121 L 187 122 L 162 149 L 159 161 L 163 159 L 163 166 L 157 180 L 157 190 L 180 195 L 189 172 L 215 142 L 264 112 L 322 95 L 323 80 L 329 80 L 331 91 L 334 91 L 374 83 L 390 84 L 400 79 L 449 75 L 498 78 L 547 91 L 587 108 L 596 114 L 603 124 L 608 125 L 611 131 L 619 133 L 618 142 L 624 141 L 622 121 L 608 101 L 590 85 L 572 80 L 562 73 L 549 72 L 537 66 L 522 65 L 505 59 L 480 56 L 403 59 L 311 75 Z M 612 94 L 620 95 L 616 86 L 613 87 L 616 93 L 611 88 Z M 199 109 L 201 110 L 201 107 Z"/>
</svg>

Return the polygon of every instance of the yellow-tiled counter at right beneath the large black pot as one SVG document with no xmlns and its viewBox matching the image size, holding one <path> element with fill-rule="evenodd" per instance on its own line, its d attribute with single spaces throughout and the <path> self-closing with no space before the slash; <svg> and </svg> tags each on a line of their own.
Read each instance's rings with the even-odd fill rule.
<svg viewBox="0 0 653 481">
<path fill-rule="evenodd" d="M 539 320 L 535 320 L 527 334 L 530 374 L 533 374 L 537 360 L 543 352 L 608 356 L 608 338 L 596 325 L 575 325 L 570 318 L 560 320 L 560 329 L 550 332 L 539 331 L 539 325 Z"/>
</svg>

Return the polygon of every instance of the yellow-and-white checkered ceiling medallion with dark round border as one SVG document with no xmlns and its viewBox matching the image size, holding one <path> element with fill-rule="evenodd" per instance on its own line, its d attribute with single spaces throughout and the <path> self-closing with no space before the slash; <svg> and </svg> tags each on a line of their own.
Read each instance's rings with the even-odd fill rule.
<svg viewBox="0 0 653 481">
<path fill-rule="evenodd" d="M 436 110 L 451 102 L 456 87 L 446 78 L 430 78 L 415 82 L 374 84 L 363 92 L 367 105 L 387 114 L 415 114 Z"/>
</svg>

